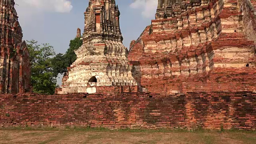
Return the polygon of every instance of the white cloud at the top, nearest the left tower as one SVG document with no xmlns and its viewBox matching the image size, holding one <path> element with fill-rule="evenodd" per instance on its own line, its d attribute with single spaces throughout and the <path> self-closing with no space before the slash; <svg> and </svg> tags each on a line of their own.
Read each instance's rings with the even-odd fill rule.
<svg viewBox="0 0 256 144">
<path fill-rule="evenodd" d="M 70 0 L 16 0 L 15 2 L 20 9 L 30 10 L 32 8 L 41 12 L 70 12 L 73 8 Z"/>
</svg>

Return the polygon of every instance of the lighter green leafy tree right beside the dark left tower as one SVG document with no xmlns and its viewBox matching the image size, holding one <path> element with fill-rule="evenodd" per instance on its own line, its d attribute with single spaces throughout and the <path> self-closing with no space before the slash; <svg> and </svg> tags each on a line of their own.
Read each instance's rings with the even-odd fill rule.
<svg viewBox="0 0 256 144">
<path fill-rule="evenodd" d="M 35 40 L 27 41 L 31 60 L 31 81 L 33 92 L 40 94 L 54 94 L 56 77 L 52 67 L 55 52 L 49 44 L 38 45 Z"/>
</svg>

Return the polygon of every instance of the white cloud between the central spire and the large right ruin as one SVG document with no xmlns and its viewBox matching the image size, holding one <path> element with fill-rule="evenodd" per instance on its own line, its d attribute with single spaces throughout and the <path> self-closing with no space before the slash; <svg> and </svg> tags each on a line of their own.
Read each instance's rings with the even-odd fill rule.
<svg viewBox="0 0 256 144">
<path fill-rule="evenodd" d="M 142 15 L 149 18 L 155 15 L 157 4 L 158 0 L 134 0 L 134 2 L 130 4 L 130 7 L 141 9 Z"/>
</svg>

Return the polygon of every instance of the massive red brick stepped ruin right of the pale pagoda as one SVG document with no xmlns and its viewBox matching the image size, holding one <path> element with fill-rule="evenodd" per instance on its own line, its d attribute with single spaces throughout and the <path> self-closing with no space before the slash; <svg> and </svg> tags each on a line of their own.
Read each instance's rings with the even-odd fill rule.
<svg viewBox="0 0 256 144">
<path fill-rule="evenodd" d="M 159 0 L 156 20 L 130 44 L 144 91 L 255 92 L 255 0 Z"/>
</svg>

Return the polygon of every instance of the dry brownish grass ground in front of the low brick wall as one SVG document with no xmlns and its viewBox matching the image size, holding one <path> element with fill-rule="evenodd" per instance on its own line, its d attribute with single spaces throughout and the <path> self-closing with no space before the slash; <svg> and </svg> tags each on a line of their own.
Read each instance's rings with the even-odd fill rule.
<svg viewBox="0 0 256 144">
<path fill-rule="evenodd" d="M 256 144 L 256 132 L 0 128 L 0 144 Z"/>
</svg>

